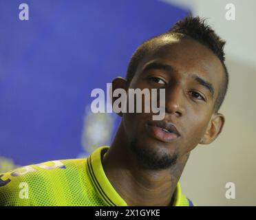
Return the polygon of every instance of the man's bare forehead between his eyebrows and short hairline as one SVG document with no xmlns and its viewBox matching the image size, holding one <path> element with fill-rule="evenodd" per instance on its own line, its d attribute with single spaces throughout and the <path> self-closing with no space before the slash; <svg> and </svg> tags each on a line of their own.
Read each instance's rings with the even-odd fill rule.
<svg viewBox="0 0 256 220">
<path fill-rule="evenodd" d="M 219 91 L 224 80 L 220 59 L 208 47 L 193 39 L 165 38 L 156 41 L 156 46 L 138 65 L 136 75 L 154 61 L 171 65 L 182 78 L 197 74 L 211 82 L 215 91 Z"/>
</svg>

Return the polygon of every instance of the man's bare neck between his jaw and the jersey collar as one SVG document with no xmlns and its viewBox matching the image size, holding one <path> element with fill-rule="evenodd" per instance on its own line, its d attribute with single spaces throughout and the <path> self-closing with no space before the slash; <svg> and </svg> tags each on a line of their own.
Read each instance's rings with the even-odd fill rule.
<svg viewBox="0 0 256 220">
<path fill-rule="evenodd" d="M 131 152 L 122 122 L 114 142 L 103 157 L 107 178 L 128 206 L 171 206 L 189 154 L 165 170 L 148 170 Z"/>
</svg>

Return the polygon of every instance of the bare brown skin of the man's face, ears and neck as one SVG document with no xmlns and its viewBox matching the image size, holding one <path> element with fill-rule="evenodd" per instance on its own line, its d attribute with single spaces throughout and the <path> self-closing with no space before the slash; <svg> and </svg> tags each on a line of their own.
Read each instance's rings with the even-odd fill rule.
<svg viewBox="0 0 256 220">
<path fill-rule="evenodd" d="M 122 121 L 103 157 L 103 168 L 128 206 L 171 206 L 189 153 L 198 144 L 213 142 L 224 125 L 224 115 L 214 109 L 224 80 L 224 68 L 217 56 L 188 38 L 160 39 L 156 45 L 158 49 L 142 59 L 131 82 L 115 78 L 113 89 L 165 89 L 164 120 L 175 124 L 180 137 L 162 142 L 149 135 L 145 123 L 152 120 L 153 113 L 119 114 Z M 171 69 L 146 69 L 151 63 L 168 65 Z M 195 77 L 209 83 L 213 91 Z M 163 155 L 178 155 L 178 158 L 167 168 L 149 168 L 131 150 L 133 140 L 138 148 L 152 153 L 156 159 Z"/>
</svg>

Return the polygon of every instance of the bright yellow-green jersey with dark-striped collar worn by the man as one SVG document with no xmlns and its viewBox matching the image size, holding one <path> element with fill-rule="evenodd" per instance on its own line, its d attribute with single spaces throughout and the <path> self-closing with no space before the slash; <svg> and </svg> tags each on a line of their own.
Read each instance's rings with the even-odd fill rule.
<svg viewBox="0 0 256 220">
<path fill-rule="evenodd" d="M 127 206 L 105 175 L 97 148 L 85 159 L 62 159 L 0 174 L 0 206 Z M 180 183 L 173 206 L 193 206 Z"/>
</svg>

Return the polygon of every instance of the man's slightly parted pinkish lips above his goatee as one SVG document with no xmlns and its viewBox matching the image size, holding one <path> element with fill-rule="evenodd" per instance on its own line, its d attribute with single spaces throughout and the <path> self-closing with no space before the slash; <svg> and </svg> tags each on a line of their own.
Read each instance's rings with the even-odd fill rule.
<svg viewBox="0 0 256 220">
<path fill-rule="evenodd" d="M 156 139 L 162 142 L 172 142 L 180 137 L 175 125 L 167 121 L 151 121 L 146 124 L 146 129 Z"/>
</svg>

